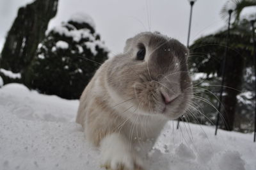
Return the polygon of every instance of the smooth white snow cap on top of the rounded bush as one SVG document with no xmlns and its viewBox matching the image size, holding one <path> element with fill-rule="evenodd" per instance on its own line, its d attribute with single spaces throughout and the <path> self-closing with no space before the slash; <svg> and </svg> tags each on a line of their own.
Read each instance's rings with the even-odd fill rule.
<svg viewBox="0 0 256 170">
<path fill-rule="evenodd" d="M 81 23 L 81 24 L 83 23 L 89 24 L 91 27 L 93 27 L 93 29 L 95 29 L 95 22 L 93 21 L 92 17 L 90 17 L 90 15 L 86 13 L 82 13 L 82 12 L 74 13 L 73 15 L 71 15 L 69 20 L 77 23 Z"/>
</svg>

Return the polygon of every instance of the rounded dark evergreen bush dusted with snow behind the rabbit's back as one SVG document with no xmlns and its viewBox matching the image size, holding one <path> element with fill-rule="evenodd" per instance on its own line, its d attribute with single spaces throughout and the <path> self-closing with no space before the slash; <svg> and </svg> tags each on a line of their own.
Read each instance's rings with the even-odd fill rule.
<svg viewBox="0 0 256 170">
<path fill-rule="evenodd" d="M 31 88 L 63 98 L 79 98 L 95 70 L 108 58 L 108 49 L 95 33 L 93 19 L 76 13 L 47 31 L 29 67 Z"/>
</svg>

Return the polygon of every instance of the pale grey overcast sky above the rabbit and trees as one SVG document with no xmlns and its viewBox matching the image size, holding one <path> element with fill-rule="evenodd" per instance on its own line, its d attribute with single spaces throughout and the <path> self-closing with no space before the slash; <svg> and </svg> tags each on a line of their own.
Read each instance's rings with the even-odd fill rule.
<svg viewBox="0 0 256 170">
<path fill-rule="evenodd" d="M 0 1 L 0 49 L 20 6 L 31 0 Z M 226 0 L 198 0 L 193 8 L 191 42 L 225 26 L 220 10 Z M 96 31 L 113 54 L 122 52 L 125 40 L 141 31 L 159 31 L 186 44 L 188 0 L 59 0 L 58 13 L 49 29 L 76 12 L 88 13 Z"/>
</svg>

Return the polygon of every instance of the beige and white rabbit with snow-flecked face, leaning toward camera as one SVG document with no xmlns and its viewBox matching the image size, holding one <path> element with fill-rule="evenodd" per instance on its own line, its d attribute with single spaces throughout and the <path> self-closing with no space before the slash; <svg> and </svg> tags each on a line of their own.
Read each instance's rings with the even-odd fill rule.
<svg viewBox="0 0 256 170">
<path fill-rule="evenodd" d="M 158 32 L 126 41 L 105 61 L 80 98 L 76 122 L 111 170 L 145 169 L 136 145 L 154 144 L 169 120 L 182 116 L 193 93 L 188 49 Z"/>
</svg>

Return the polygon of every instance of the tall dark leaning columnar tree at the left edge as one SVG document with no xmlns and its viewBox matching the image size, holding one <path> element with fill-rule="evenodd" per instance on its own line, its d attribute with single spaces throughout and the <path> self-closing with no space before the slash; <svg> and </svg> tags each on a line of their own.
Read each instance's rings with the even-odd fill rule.
<svg viewBox="0 0 256 170">
<path fill-rule="evenodd" d="M 1 52 L 1 68 L 24 74 L 45 36 L 49 21 L 56 15 L 57 6 L 58 0 L 36 0 L 19 8 Z"/>
</svg>

